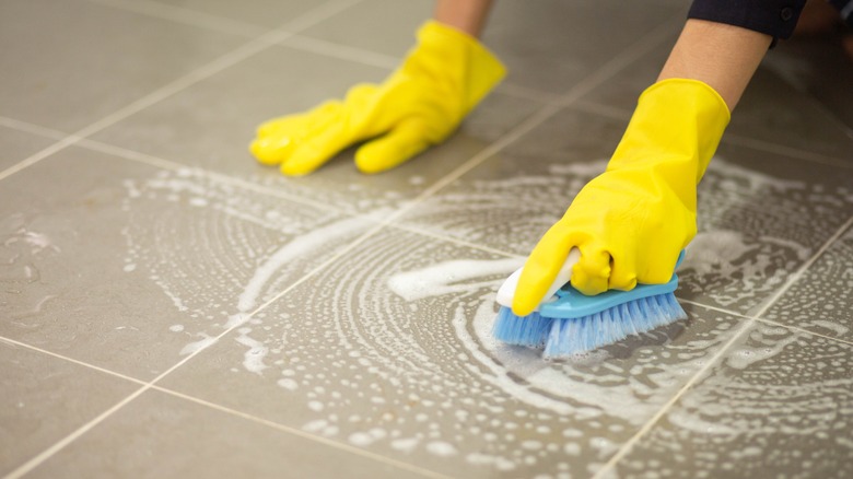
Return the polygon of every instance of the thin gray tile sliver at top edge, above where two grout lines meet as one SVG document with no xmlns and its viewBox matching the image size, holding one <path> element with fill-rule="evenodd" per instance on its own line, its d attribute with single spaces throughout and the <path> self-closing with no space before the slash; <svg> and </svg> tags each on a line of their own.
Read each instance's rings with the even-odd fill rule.
<svg viewBox="0 0 853 479">
<path fill-rule="evenodd" d="M 153 0 L 153 2 L 267 27 L 282 26 L 294 17 L 316 8 L 319 3 L 312 0 L 253 0 L 242 2 L 233 2 L 231 0 Z"/>
</svg>

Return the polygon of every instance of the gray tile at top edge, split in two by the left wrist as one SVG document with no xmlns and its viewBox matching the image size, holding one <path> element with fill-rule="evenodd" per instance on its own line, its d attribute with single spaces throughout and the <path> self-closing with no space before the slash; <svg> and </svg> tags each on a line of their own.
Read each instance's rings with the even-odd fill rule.
<svg viewBox="0 0 853 479">
<path fill-rule="evenodd" d="M 411 3 L 366 0 L 305 34 L 401 57 L 418 25 L 432 16 L 433 2 Z M 562 93 L 683 8 L 674 1 L 495 2 L 482 42 L 507 66 L 509 82 Z"/>
</svg>

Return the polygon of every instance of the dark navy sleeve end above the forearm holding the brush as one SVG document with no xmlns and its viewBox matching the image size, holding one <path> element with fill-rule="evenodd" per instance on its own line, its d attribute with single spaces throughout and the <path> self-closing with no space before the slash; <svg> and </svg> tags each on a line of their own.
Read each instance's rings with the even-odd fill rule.
<svg viewBox="0 0 853 479">
<path fill-rule="evenodd" d="M 805 4 L 806 0 L 693 0 L 687 16 L 790 38 Z"/>
</svg>

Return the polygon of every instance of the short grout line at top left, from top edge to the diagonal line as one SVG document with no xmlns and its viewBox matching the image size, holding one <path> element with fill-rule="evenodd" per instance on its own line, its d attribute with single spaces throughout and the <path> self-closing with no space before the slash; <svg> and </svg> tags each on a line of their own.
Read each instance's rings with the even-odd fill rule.
<svg viewBox="0 0 853 479">
<path fill-rule="evenodd" d="M 229 33 L 249 38 L 262 35 L 272 30 L 252 23 L 241 22 L 238 20 L 225 16 L 212 15 L 198 10 L 184 7 L 170 5 L 151 0 L 89 0 L 104 7 L 110 7 L 126 12 L 138 13 L 155 19 L 167 20 L 170 22 L 180 23 L 189 26 L 212 30 L 220 33 Z"/>
</svg>

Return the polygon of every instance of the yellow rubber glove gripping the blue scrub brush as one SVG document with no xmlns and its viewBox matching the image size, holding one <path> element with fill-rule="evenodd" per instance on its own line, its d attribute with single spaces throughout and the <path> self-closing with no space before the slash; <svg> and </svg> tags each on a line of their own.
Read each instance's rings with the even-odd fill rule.
<svg viewBox="0 0 853 479">
<path fill-rule="evenodd" d="M 643 92 L 605 173 L 527 258 L 513 312 L 539 305 L 573 247 L 581 259 L 571 282 L 584 294 L 668 281 L 696 236 L 696 187 L 729 118 L 723 98 L 697 80 L 664 80 Z"/>
</svg>

